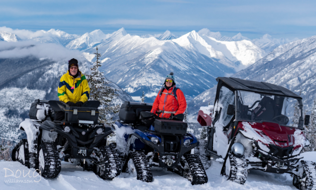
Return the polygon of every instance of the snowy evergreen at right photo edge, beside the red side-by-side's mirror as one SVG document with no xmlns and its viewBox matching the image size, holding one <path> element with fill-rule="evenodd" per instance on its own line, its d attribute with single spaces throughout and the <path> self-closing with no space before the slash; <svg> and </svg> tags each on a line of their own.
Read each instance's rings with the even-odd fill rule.
<svg viewBox="0 0 316 190">
<path fill-rule="evenodd" d="M 309 125 L 305 129 L 306 137 L 309 140 L 309 147 L 304 148 L 304 151 L 315 151 L 316 148 L 316 99 L 313 101 L 313 106 L 310 113 Z"/>
</svg>

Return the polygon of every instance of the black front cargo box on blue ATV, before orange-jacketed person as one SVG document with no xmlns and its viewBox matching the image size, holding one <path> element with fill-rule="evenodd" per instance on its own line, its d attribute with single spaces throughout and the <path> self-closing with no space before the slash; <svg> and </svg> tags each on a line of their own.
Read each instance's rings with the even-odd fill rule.
<svg viewBox="0 0 316 190">
<path fill-rule="evenodd" d="M 185 135 L 188 124 L 183 121 L 175 120 L 155 120 L 154 130 L 160 133 Z"/>
</svg>

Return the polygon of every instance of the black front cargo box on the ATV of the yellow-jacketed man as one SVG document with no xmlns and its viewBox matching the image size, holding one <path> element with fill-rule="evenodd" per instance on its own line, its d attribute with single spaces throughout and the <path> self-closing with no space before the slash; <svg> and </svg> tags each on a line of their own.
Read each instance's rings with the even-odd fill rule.
<svg viewBox="0 0 316 190">
<path fill-rule="evenodd" d="M 79 120 L 93 121 L 98 123 L 99 110 L 97 108 L 85 107 L 66 107 L 65 108 L 65 121 L 78 123 Z"/>
</svg>

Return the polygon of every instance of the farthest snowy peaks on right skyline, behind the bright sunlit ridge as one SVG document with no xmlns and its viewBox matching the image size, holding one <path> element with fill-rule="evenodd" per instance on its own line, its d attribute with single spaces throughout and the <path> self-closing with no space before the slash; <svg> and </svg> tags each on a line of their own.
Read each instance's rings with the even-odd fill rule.
<svg viewBox="0 0 316 190">
<path fill-rule="evenodd" d="M 267 53 L 270 53 L 271 51 L 273 51 L 273 49 L 275 49 L 279 45 L 298 40 L 298 38 L 294 38 L 292 40 L 284 39 L 284 38 L 275 39 L 275 38 L 272 38 L 269 34 L 265 34 L 261 38 L 259 38 L 259 39 L 256 38 L 253 40 L 242 36 L 241 33 L 238 33 L 237 35 L 235 35 L 233 37 L 227 37 L 227 36 L 222 36 L 220 32 L 211 32 L 207 28 L 200 30 L 198 33 L 201 36 L 203 36 L 203 35 L 209 36 L 209 37 L 215 38 L 216 40 L 219 40 L 219 41 L 230 41 L 231 42 L 231 41 L 248 40 L 248 41 L 253 42 L 256 46 L 260 47 L 261 49 L 263 49 Z"/>
</svg>

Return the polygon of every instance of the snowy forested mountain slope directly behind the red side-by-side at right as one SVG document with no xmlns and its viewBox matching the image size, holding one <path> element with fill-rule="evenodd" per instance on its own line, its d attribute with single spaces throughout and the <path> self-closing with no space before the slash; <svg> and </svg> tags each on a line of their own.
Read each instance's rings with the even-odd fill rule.
<svg viewBox="0 0 316 190">
<path fill-rule="evenodd" d="M 275 48 L 264 58 L 231 77 L 264 81 L 286 87 L 303 98 L 306 111 L 310 111 L 316 98 L 316 36 L 296 40 Z M 214 104 L 216 86 L 204 91 L 188 104 L 192 121 L 201 106 Z M 195 117 L 195 118 L 193 118 Z"/>
</svg>

